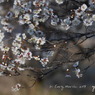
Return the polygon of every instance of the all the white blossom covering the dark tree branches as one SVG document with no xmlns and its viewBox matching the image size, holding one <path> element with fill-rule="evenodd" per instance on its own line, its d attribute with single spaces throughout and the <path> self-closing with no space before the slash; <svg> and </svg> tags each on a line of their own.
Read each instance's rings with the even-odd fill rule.
<svg viewBox="0 0 95 95">
<path fill-rule="evenodd" d="M 5 2 L 5 0 L 1 1 Z M 65 0 L 54 1 L 59 5 L 65 2 Z M 77 9 L 70 10 L 70 15 L 63 18 L 60 18 L 49 5 L 50 0 L 13 0 L 13 6 L 9 11 L 4 16 L 0 16 L 0 51 L 2 52 L 2 62 L 0 63 L 2 71 L 0 76 L 3 75 L 5 70 L 8 72 L 15 72 L 16 69 L 24 70 L 24 68 L 21 68 L 21 65 L 25 65 L 26 61 L 31 61 L 31 59 L 39 61 L 42 67 L 48 65 L 49 56 L 53 55 L 54 52 L 44 57 L 33 55 L 32 52 L 32 49 L 40 50 L 46 43 L 46 37 L 43 33 L 44 29 L 41 30 L 40 23 L 49 21 L 51 27 L 60 26 L 61 29 L 68 30 L 81 23 L 85 26 L 91 26 L 95 22 L 95 14 L 90 14 L 89 12 L 93 11 L 92 6 L 95 6 L 93 0 L 89 0 L 89 6 L 82 4 Z M 18 33 L 19 31 L 14 33 L 15 23 L 22 27 L 26 25 L 27 29 L 23 30 L 23 32 L 20 31 L 20 33 Z M 4 43 L 6 33 L 15 35 L 11 42 L 11 47 Z M 13 58 L 8 55 L 9 52 L 12 52 Z M 80 74 L 80 69 L 77 68 L 78 65 L 79 62 L 76 62 L 73 67 L 75 68 L 76 76 L 80 78 L 82 74 Z M 17 91 L 20 86 L 20 84 L 17 84 L 12 90 Z"/>
</svg>

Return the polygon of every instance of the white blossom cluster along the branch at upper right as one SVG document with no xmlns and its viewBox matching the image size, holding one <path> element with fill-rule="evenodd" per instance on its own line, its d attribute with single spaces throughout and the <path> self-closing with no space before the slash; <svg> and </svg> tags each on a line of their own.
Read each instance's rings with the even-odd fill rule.
<svg viewBox="0 0 95 95">
<path fill-rule="evenodd" d="M 63 0 L 56 0 L 56 2 L 62 3 Z M 95 3 L 95 2 L 94 2 Z M 93 21 L 95 21 L 94 15 L 87 13 L 87 11 L 92 11 L 91 7 L 88 7 L 86 4 L 81 5 L 78 9 L 74 9 L 72 15 L 68 16 L 65 19 L 60 19 L 56 15 L 51 16 L 51 25 L 57 26 L 60 22 L 60 28 L 63 30 L 68 30 L 70 27 L 79 25 L 82 21 L 85 26 L 91 26 Z M 84 15 L 86 15 L 84 17 Z"/>
</svg>

